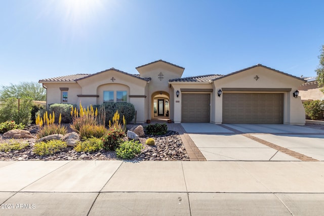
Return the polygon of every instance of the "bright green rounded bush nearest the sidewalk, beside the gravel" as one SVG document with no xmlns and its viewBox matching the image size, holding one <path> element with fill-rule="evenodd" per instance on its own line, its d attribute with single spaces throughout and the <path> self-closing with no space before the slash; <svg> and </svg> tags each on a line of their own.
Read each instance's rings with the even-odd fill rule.
<svg viewBox="0 0 324 216">
<path fill-rule="evenodd" d="M 123 159 L 132 159 L 137 154 L 140 154 L 142 149 L 143 145 L 138 141 L 126 141 L 121 143 L 119 148 L 116 149 L 116 155 Z"/>
</svg>

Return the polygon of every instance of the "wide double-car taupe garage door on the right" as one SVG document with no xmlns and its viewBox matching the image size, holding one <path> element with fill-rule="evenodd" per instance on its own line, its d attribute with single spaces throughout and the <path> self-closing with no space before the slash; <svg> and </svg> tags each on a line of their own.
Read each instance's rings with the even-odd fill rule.
<svg viewBox="0 0 324 216">
<path fill-rule="evenodd" d="M 223 123 L 282 124 L 284 94 L 224 93 Z"/>
</svg>

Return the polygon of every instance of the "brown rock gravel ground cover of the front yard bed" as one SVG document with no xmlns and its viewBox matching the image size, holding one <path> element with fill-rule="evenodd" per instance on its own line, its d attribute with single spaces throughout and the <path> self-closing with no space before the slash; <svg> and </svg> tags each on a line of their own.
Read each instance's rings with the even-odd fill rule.
<svg viewBox="0 0 324 216">
<path fill-rule="evenodd" d="M 27 129 L 32 135 L 35 135 L 37 130 L 35 127 Z M 155 140 L 155 146 L 148 146 L 145 141 L 148 138 Z M 127 138 L 125 138 L 127 139 Z M 177 132 L 168 131 L 164 136 L 147 136 L 139 138 L 144 149 L 141 154 L 132 160 L 190 160 L 184 148 L 182 140 Z M 94 153 L 83 153 L 74 151 L 73 147 L 68 147 L 64 151 L 54 155 L 38 156 L 33 153 L 33 146 L 36 138 L 33 139 L 15 139 L 15 142 L 28 142 L 29 145 L 20 151 L 0 152 L 0 160 L 121 160 L 116 157 L 114 151 L 101 150 Z M 10 139 L 3 138 L 0 134 L 0 143 L 10 142 Z"/>
</svg>

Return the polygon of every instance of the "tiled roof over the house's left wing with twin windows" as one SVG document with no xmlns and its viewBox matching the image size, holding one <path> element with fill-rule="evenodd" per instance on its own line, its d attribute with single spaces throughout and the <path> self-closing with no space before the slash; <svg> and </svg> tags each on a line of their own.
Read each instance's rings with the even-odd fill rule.
<svg viewBox="0 0 324 216">
<path fill-rule="evenodd" d="M 99 73 L 103 73 L 103 72 L 106 72 L 106 71 L 109 71 L 109 70 L 114 70 L 114 71 L 117 71 L 117 72 L 120 72 L 120 73 L 124 73 L 126 75 L 133 76 L 135 78 L 142 79 L 142 80 L 145 80 L 145 81 L 151 80 L 151 78 L 142 78 L 142 77 L 140 77 L 139 74 L 130 74 L 130 73 L 126 73 L 126 72 L 121 71 L 121 70 L 117 70 L 115 68 L 110 68 L 110 69 L 107 69 L 107 70 L 100 71 L 98 73 L 73 74 L 73 75 L 67 75 L 67 76 L 58 76 L 58 77 L 53 77 L 53 78 L 41 79 L 38 82 L 75 82 L 75 81 L 78 81 L 80 79 L 85 79 L 85 78 L 88 78 L 90 76 L 94 76 L 94 75 L 97 75 Z"/>
</svg>

